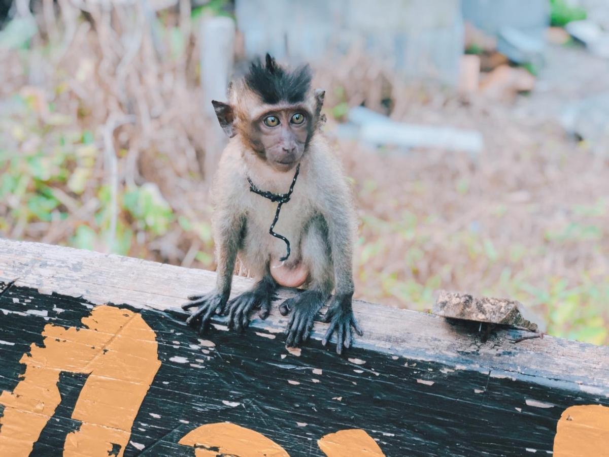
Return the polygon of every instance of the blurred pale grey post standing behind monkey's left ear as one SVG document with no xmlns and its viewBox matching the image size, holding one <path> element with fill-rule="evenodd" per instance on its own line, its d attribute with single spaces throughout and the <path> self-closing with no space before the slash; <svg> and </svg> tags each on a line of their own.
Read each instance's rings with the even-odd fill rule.
<svg viewBox="0 0 609 457">
<path fill-rule="evenodd" d="M 233 69 L 235 26 L 231 18 L 206 18 L 201 24 L 201 85 L 205 115 L 205 163 L 203 172 L 210 179 L 216 170 L 220 152 L 228 138 L 220 127 L 212 100 L 226 101 L 228 82 Z"/>
</svg>

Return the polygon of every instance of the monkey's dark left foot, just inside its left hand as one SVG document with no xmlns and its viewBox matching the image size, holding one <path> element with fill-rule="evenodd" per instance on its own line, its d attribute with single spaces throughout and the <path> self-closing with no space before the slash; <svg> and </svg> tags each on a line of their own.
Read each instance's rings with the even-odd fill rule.
<svg viewBox="0 0 609 457">
<path fill-rule="evenodd" d="M 244 292 L 228 302 L 224 311 L 224 314 L 228 314 L 228 327 L 243 331 L 250 324 L 250 313 L 254 309 L 259 309 L 258 316 L 266 319 L 270 313 L 270 303 L 276 288 L 277 285 L 267 268 L 267 273 L 251 291 Z"/>
</svg>

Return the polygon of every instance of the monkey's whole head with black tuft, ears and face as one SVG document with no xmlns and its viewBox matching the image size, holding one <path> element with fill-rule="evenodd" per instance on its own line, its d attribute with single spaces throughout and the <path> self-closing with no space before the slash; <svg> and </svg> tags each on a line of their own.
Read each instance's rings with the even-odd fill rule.
<svg viewBox="0 0 609 457">
<path fill-rule="evenodd" d="M 325 91 L 311 89 L 311 68 L 289 71 L 266 55 L 231 85 L 229 103 L 212 101 L 228 136 L 277 171 L 290 171 L 306 153 L 320 122 Z"/>
</svg>

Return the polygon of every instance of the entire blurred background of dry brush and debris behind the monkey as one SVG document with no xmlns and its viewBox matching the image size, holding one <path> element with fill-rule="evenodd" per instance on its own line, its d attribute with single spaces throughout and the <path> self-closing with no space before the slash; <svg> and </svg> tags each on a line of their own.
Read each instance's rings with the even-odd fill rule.
<svg viewBox="0 0 609 457">
<path fill-rule="evenodd" d="M 210 100 L 310 62 L 360 299 L 609 343 L 608 0 L 0 0 L 0 236 L 214 269 Z"/>
</svg>

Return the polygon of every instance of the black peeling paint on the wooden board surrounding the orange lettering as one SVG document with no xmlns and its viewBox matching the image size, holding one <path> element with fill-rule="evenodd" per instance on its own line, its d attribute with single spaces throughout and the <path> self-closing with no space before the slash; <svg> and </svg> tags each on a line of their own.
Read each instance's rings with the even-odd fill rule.
<svg viewBox="0 0 609 457">
<path fill-rule="evenodd" d="M 0 391 L 15 388 L 24 371 L 19 359 L 32 342 L 43 343 L 44 325 L 81 327 L 93 306 L 21 286 L 2 292 Z M 131 442 L 144 448 L 129 444 L 125 456 L 192 456 L 192 448 L 177 444 L 180 438 L 199 425 L 224 421 L 264 434 L 292 456 L 323 456 L 317 439 L 348 428 L 367 431 L 387 456 L 521 456 L 527 449 L 543 455 L 552 452 L 564 409 L 609 406 L 609 398 L 572 382 L 493 377 L 484 369 L 456 369 L 452 361 L 371 349 L 340 357 L 319 341 L 297 356 L 285 349 L 283 335 L 259 329 L 237 335 L 213 328 L 204 337 L 214 342 L 210 348 L 183 323 L 184 313 L 122 307 L 141 313 L 155 331 L 162 363 L 132 428 Z M 182 358 L 186 363 L 177 362 Z M 71 411 L 85 380 L 62 375 L 62 403 L 32 455 L 61 455 L 66 433 L 79 427 Z"/>
</svg>

